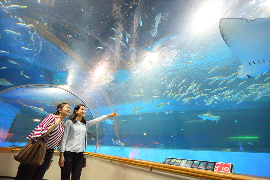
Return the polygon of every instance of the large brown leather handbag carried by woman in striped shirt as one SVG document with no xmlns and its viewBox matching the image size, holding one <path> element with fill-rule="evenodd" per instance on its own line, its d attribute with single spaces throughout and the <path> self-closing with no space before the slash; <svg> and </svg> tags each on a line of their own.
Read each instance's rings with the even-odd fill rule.
<svg viewBox="0 0 270 180">
<path fill-rule="evenodd" d="M 39 167 L 44 163 L 46 143 L 29 141 L 14 155 L 14 159 L 22 164 Z"/>
</svg>

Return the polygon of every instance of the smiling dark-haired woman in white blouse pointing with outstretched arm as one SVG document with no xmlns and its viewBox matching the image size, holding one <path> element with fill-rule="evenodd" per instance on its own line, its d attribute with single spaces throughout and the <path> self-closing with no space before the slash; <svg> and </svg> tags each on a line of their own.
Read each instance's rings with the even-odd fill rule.
<svg viewBox="0 0 270 180">
<path fill-rule="evenodd" d="M 85 121 L 85 106 L 82 104 L 75 106 L 73 114 L 65 123 L 64 134 L 60 141 L 60 146 L 57 149 L 60 152 L 58 164 L 61 167 L 61 180 L 70 180 L 70 172 L 71 180 L 80 179 L 83 164 L 83 151 L 85 149 L 86 128 L 104 121 L 109 117 L 117 116 L 116 111 L 106 116 L 104 115 L 90 121 Z"/>
</svg>

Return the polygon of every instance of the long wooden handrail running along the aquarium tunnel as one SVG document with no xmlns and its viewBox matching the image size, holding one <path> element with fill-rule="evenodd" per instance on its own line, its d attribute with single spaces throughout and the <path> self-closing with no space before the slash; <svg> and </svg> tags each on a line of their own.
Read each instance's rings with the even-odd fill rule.
<svg viewBox="0 0 270 180">
<path fill-rule="evenodd" d="M 20 149 L 21 148 L 1 148 L 0 147 L 0 150 L 3 150 L 3 151 L 19 151 Z M 55 150 L 54 153 L 59 153 L 59 152 L 57 150 Z M 187 167 L 172 166 L 169 164 L 161 164 L 161 163 L 155 163 L 155 162 L 151 162 L 151 161 L 123 158 L 123 157 L 104 155 L 104 154 L 98 154 L 98 153 L 92 153 L 92 152 L 86 152 L 85 155 L 90 155 L 90 156 L 94 156 L 97 158 L 103 158 L 103 159 L 107 159 L 109 161 L 112 160 L 112 161 L 116 161 L 116 162 L 120 162 L 120 163 L 130 164 L 130 165 L 134 165 L 134 166 L 140 166 L 140 167 L 144 167 L 144 168 L 151 167 L 154 170 L 165 171 L 168 173 L 177 173 L 177 174 L 182 174 L 185 176 L 194 176 L 194 177 L 205 178 L 205 179 L 213 179 L 213 180 L 266 180 L 266 179 L 249 177 L 249 176 L 240 176 L 240 175 L 234 175 L 234 174 L 219 173 L 219 172 L 214 172 L 214 171 L 206 171 L 206 170 L 187 168 Z"/>
</svg>

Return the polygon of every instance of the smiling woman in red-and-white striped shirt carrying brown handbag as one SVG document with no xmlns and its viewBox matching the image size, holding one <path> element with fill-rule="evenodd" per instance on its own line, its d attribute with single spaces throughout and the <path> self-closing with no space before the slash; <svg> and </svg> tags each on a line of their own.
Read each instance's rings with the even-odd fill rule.
<svg viewBox="0 0 270 180">
<path fill-rule="evenodd" d="M 27 140 L 47 143 L 44 163 L 40 167 L 20 163 L 15 180 L 42 180 L 45 172 L 49 169 L 54 150 L 64 133 L 64 118 L 69 116 L 70 107 L 67 103 L 57 106 L 57 112 L 47 116 L 26 138 Z"/>
</svg>

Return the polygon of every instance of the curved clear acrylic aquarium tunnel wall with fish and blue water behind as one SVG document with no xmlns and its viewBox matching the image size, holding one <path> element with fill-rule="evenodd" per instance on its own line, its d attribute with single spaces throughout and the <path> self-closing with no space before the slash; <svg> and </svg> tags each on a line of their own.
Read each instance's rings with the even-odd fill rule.
<svg viewBox="0 0 270 180">
<path fill-rule="evenodd" d="M 59 103 L 85 104 L 87 120 L 118 109 L 88 128 L 88 152 L 270 177 L 270 0 L 0 6 L 1 147 Z"/>
</svg>

